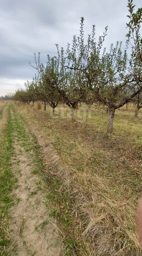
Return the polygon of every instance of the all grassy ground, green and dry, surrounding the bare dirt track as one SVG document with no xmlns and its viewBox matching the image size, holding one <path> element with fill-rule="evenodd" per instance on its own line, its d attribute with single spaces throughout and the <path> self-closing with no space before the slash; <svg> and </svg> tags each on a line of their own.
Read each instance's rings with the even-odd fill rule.
<svg viewBox="0 0 142 256">
<path fill-rule="evenodd" d="M 32 108 L 17 102 L 16 109 L 13 104 L 0 106 L 1 255 L 16 255 L 17 246 L 20 248 L 12 239 L 14 230 L 9 230 L 10 208 L 23 205 L 13 194 L 17 176 L 11 164 L 20 166 L 19 161 L 11 162 L 15 143 L 24 152 L 19 149 L 17 157 L 25 154 L 28 159 L 30 154 L 27 168 L 32 158 L 32 173 L 39 177 L 28 201 L 38 200 L 38 193 L 44 196 L 46 214 L 35 228 L 37 236 L 52 225 L 64 242 L 65 256 L 142 255 L 137 234 L 142 195 L 142 112 L 134 118 L 131 105 L 128 111 L 116 111 L 114 133 L 108 135 L 107 115 L 95 108 L 88 115 L 82 106 L 72 122 L 67 107 L 58 106 L 53 116 L 48 106 L 43 112 L 36 104 Z M 18 175 L 19 179 L 26 177 Z M 26 221 L 20 239 L 23 230 L 28 231 Z"/>
</svg>

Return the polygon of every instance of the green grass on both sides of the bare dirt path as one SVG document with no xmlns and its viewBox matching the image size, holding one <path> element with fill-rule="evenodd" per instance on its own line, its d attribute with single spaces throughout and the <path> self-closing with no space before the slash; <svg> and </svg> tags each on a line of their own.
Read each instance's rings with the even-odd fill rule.
<svg viewBox="0 0 142 256">
<path fill-rule="evenodd" d="M 14 116 L 14 126 L 11 119 L 10 110 L 13 112 Z M 43 155 L 41 147 L 39 146 L 36 137 L 27 131 L 26 123 L 22 116 L 20 116 L 14 106 L 11 104 L 8 109 L 8 120 L 6 129 L 4 131 L 3 137 L 0 141 L 0 167 L 2 172 L 0 173 L 0 195 L 1 195 L 1 208 L 0 208 L 0 226 L 3 226 L 3 229 L 0 233 L 0 255 L 2 256 L 13 256 L 16 254 L 17 246 L 13 244 L 10 239 L 8 226 L 10 221 L 10 208 L 14 205 L 14 202 L 19 202 L 19 198 L 16 199 L 12 195 L 13 188 L 16 188 L 17 179 L 14 177 L 11 172 L 11 157 L 14 157 L 14 146 L 13 146 L 13 132 L 16 131 L 20 143 L 23 145 L 24 150 L 30 155 L 29 158 L 33 160 L 35 169 L 33 173 L 41 177 L 41 181 L 37 182 L 37 190 L 42 190 L 45 194 L 45 206 L 47 206 L 48 211 L 50 209 L 49 217 L 54 217 L 62 225 L 63 232 L 65 233 L 70 229 L 70 225 L 73 224 L 70 211 L 69 210 L 69 198 L 67 189 L 59 179 L 56 179 L 46 173 L 47 165 L 43 160 Z M 33 152 L 33 153 L 32 153 Z M 18 164 L 18 161 L 15 161 L 14 164 Z M 37 191 L 30 193 L 30 196 L 33 196 Z M 58 204 L 57 204 L 58 201 Z M 63 209 L 60 208 L 60 205 L 64 206 Z M 22 236 L 24 225 L 26 224 L 25 218 L 21 218 L 20 225 L 20 235 Z M 48 221 L 41 223 L 40 228 L 43 230 L 48 224 Z M 38 230 L 39 227 L 37 227 Z M 71 255 L 72 253 L 72 241 L 70 241 L 70 236 L 65 235 L 64 238 L 66 251 Z M 77 241 L 74 241 L 74 244 L 77 244 Z M 11 249 L 12 248 L 12 249 Z M 69 254 L 70 252 L 70 254 Z M 29 255 L 32 255 L 29 252 Z M 33 254 L 34 255 L 34 254 Z"/>
</svg>

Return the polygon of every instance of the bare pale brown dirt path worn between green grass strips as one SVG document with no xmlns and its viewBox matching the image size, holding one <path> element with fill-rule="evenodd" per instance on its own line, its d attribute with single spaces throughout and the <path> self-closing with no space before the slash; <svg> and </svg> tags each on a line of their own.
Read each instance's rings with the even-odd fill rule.
<svg viewBox="0 0 142 256">
<path fill-rule="evenodd" d="M 17 188 L 13 191 L 16 202 L 11 209 L 12 239 L 17 243 L 19 256 L 63 256 L 62 244 L 57 229 L 48 220 L 44 195 L 38 189 L 39 177 L 33 173 L 32 155 L 25 151 L 23 141 L 17 134 L 16 119 L 11 111 L 14 127 L 14 151 L 12 170 L 17 177 Z"/>
</svg>

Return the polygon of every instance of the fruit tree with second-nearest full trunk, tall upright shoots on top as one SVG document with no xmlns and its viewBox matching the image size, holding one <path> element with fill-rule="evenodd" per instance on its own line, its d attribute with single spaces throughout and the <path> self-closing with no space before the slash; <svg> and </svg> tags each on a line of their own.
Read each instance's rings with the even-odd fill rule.
<svg viewBox="0 0 142 256">
<path fill-rule="evenodd" d="M 61 59 L 61 69 L 64 70 L 64 83 L 58 90 L 62 94 L 64 102 L 71 108 L 72 119 L 74 119 L 75 109 L 78 103 L 85 102 L 89 105 L 94 103 L 95 96 L 93 88 L 97 84 L 97 77 L 91 73 L 90 66 L 96 67 L 96 72 L 102 74 L 99 54 L 102 42 L 106 36 L 107 27 L 103 36 L 99 37 L 98 45 L 94 42 L 95 26 L 92 27 L 92 35 L 88 36 L 87 44 L 84 43 L 84 18 L 81 18 L 80 35 L 73 36 L 72 45 L 67 45 L 67 51 L 58 51 L 58 57 Z M 92 54 L 93 52 L 93 54 Z M 102 76 L 102 75 L 101 75 Z"/>
</svg>

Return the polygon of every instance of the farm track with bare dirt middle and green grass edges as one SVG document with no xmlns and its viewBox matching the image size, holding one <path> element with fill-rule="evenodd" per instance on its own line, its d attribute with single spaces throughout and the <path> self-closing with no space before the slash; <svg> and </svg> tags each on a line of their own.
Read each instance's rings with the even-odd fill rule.
<svg viewBox="0 0 142 256">
<path fill-rule="evenodd" d="M 50 217 L 40 146 L 10 102 L 4 105 L 0 135 L 0 255 L 63 255 L 63 234 Z"/>
</svg>

